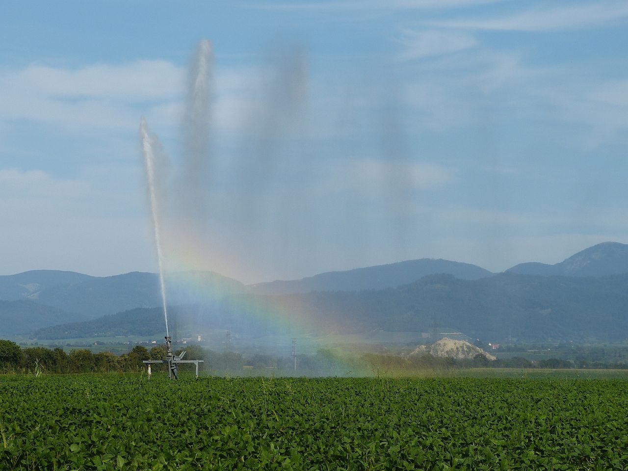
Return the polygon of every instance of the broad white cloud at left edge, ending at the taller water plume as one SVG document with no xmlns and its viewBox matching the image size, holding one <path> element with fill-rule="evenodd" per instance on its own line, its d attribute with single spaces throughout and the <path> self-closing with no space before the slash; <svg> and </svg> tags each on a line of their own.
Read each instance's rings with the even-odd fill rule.
<svg viewBox="0 0 628 471">
<path fill-rule="evenodd" d="M 4 70 L 0 120 L 26 119 L 65 129 L 133 128 L 141 114 L 136 102 L 175 100 L 182 80 L 181 70 L 163 61 Z"/>
</svg>

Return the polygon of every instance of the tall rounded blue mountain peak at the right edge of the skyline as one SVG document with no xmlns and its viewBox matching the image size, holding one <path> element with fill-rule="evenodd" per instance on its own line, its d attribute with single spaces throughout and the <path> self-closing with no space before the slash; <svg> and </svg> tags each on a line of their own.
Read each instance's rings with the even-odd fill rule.
<svg viewBox="0 0 628 471">
<path fill-rule="evenodd" d="M 520 263 L 507 273 L 540 276 L 609 276 L 628 273 L 628 245 L 619 242 L 602 242 L 588 247 L 554 265 Z"/>
</svg>

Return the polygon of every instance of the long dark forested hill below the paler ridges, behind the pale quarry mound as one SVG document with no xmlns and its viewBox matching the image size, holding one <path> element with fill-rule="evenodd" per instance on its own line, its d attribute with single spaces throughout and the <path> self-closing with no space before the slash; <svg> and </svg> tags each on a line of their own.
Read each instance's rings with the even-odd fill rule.
<svg viewBox="0 0 628 471">
<path fill-rule="evenodd" d="M 430 332 L 436 321 L 442 327 L 486 341 L 503 342 L 511 337 L 533 342 L 582 342 L 628 338 L 627 308 L 628 274 L 575 278 L 506 273 L 477 280 L 430 275 L 386 290 L 229 296 L 213 303 L 210 309 L 199 310 L 193 323 L 202 329 L 229 328 L 234 333 L 262 334 L 273 328 L 272 322 L 264 323 L 266 319 L 290 313 L 282 322 L 290 327 L 292 318 L 301 332 Z M 150 312 L 150 318 L 160 322 L 160 311 Z M 149 322 L 148 318 L 139 320 L 144 313 L 148 310 L 107 318 L 115 320 L 109 322 L 112 330 L 107 332 L 144 332 L 131 327 Z M 105 332 L 91 324 L 68 327 L 72 328 L 65 330 L 73 337 Z M 51 337 L 58 332 L 56 327 L 45 328 L 38 335 L 58 338 Z"/>
</svg>

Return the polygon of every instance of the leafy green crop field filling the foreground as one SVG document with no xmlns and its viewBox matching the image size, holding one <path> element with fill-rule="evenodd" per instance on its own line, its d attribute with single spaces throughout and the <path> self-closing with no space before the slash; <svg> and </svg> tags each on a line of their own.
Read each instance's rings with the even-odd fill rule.
<svg viewBox="0 0 628 471">
<path fill-rule="evenodd" d="M 2 470 L 625 470 L 625 379 L 0 376 Z"/>
</svg>

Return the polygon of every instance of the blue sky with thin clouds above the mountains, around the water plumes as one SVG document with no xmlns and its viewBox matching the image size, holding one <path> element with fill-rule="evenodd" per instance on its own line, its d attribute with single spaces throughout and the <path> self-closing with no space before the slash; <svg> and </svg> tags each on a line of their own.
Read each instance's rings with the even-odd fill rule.
<svg viewBox="0 0 628 471">
<path fill-rule="evenodd" d="M 181 4 L 0 5 L 0 273 L 156 269 L 139 121 L 176 166 L 202 38 L 212 153 L 193 268 L 502 271 L 628 242 L 625 1 Z"/>
</svg>

